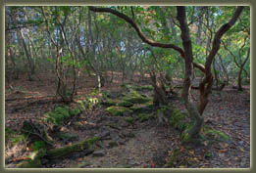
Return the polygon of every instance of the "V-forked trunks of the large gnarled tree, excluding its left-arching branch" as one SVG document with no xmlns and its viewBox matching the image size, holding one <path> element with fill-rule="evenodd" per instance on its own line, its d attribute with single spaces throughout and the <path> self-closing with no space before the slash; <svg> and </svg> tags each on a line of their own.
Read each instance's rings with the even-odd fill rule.
<svg viewBox="0 0 256 173">
<path fill-rule="evenodd" d="M 182 39 L 182 45 L 184 49 L 184 58 L 185 58 L 185 76 L 183 81 L 182 99 L 190 117 L 194 119 L 194 123 L 192 124 L 192 127 L 189 129 L 189 132 L 188 132 L 188 136 L 187 136 L 188 139 L 192 139 L 198 136 L 204 122 L 204 117 L 202 114 L 208 104 L 208 96 L 213 86 L 213 75 L 211 73 L 211 65 L 213 63 L 213 60 L 216 54 L 220 49 L 221 38 L 230 29 L 230 27 L 237 21 L 242 10 L 243 10 L 243 7 L 237 7 L 233 17 L 230 19 L 230 22 L 223 24 L 214 36 L 212 49 L 205 63 L 205 69 L 204 69 L 205 75 L 203 80 L 199 84 L 200 99 L 199 99 L 199 104 L 196 108 L 195 105 L 191 102 L 191 99 L 189 97 L 191 74 L 193 70 L 191 39 L 189 34 L 189 28 L 186 22 L 185 8 L 178 7 L 177 19 L 179 21 L 179 27 L 181 30 L 181 39 Z"/>
</svg>

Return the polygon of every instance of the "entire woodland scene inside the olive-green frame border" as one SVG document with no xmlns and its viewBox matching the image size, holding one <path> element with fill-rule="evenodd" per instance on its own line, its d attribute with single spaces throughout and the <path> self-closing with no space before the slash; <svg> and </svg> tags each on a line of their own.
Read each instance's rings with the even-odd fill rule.
<svg viewBox="0 0 256 173">
<path fill-rule="evenodd" d="M 250 8 L 5 8 L 7 167 L 249 167 Z"/>
</svg>

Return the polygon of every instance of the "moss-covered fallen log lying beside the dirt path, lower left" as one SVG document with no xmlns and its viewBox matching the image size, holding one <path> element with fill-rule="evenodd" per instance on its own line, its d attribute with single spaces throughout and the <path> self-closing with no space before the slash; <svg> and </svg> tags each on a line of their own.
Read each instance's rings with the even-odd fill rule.
<svg viewBox="0 0 256 173">
<path fill-rule="evenodd" d="M 57 158 L 57 157 L 65 156 L 74 151 L 83 151 L 85 149 L 90 149 L 92 145 L 98 140 L 99 140 L 98 137 L 93 137 L 91 139 L 79 142 L 74 145 L 67 145 L 63 148 L 47 151 L 47 155 L 49 158 Z"/>
</svg>

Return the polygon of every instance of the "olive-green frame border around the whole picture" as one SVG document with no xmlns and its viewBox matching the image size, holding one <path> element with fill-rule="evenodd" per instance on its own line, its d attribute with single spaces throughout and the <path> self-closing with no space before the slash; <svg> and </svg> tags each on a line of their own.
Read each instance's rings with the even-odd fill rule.
<svg viewBox="0 0 256 173">
<path fill-rule="evenodd" d="M 253 87 L 255 86 L 254 84 L 254 76 L 252 74 L 255 73 L 255 69 L 252 67 L 253 65 L 255 65 L 255 61 L 252 58 L 255 55 L 255 50 L 251 49 L 251 57 L 250 57 L 250 61 L 251 61 L 251 69 L 250 69 L 250 74 L 251 74 L 251 84 L 250 84 L 250 101 L 251 101 L 251 105 L 250 105 L 250 127 L 251 127 L 251 168 L 248 169 L 243 169 L 243 168 L 237 168 L 237 169 L 232 169 L 232 168 L 205 168 L 205 169 L 147 169 L 147 168 L 143 168 L 143 169 L 126 169 L 126 168 L 122 168 L 122 169 L 109 169 L 109 168 L 87 168 L 87 169 L 74 169 L 74 168 L 49 168 L 49 169 L 6 169 L 4 168 L 4 122 L 5 122 L 5 98 L 4 98 L 4 91 L 5 91 L 5 58 L 4 58 L 4 47 L 5 47 L 5 43 L 4 43 L 4 38 L 5 38 L 5 31 L 4 31 L 4 6 L 5 5 L 246 5 L 246 6 L 250 6 L 251 7 L 251 46 L 254 46 L 254 42 L 255 42 L 255 34 L 254 34 L 254 30 L 253 28 L 255 28 L 255 22 L 253 22 L 252 19 L 255 18 L 255 12 L 254 12 L 254 7 L 255 7 L 255 2 L 253 2 L 253 0 L 229 0 L 229 1 L 223 1 L 223 0 L 37 0 L 36 2 L 34 0 L 3 0 L 1 1 L 1 8 L 0 8 L 0 23 L 1 23 L 1 28 L 0 28 L 0 40 L 1 40 L 1 47 L 0 47 L 0 98 L 1 98 L 1 102 L 0 102 L 0 114 L 1 114 L 1 133 L 0 133 L 0 139 L 1 139 L 1 144 L 0 144 L 0 155 L 1 155 L 1 159 L 0 159 L 0 171 L 1 172 L 41 172 L 41 171 L 46 171 L 46 172 L 50 172 L 50 171 L 54 171 L 54 172 L 71 172 L 71 171 L 86 171 L 86 172 L 219 172 L 219 171 L 225 171 L 225 172 L 251 172 L 254 171 L 254 164 L 252 161 L 254 161 L 254 155 L 255 155 L 255 151 L 253 150 L 253 144 L 254 143 L 254 137 L 253 137 L 253 132 L 254 132 L 254 127 L 252 126 L 252 122 L 255 123 L 255 118 L 252 116 L 254 111 L 254 108 L 251 107 L 254 103 L 254 98 L 255 98 L 255 93 L 253 91 Z"/>
</svg>

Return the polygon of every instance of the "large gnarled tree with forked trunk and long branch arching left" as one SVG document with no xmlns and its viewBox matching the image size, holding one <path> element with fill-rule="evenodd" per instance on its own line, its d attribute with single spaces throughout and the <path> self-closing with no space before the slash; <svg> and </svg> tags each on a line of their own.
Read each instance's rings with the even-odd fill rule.
<svg viewBox="0 0 256 173">
<path fill-rule="evenodd" d="M 189 27 L 186 19 L 186 9 L 185 7 L 177 7 L 177 20 L 179 21 L 179 28 L 181 31 L 181 40 L 182 40 L 182 47 L 180 48 L 176 44 L 166 44 L 153 41 L 148 39 L 145 34 L 141 31 L 140 27 L 134 20 L 130 19 L 127 15 L 118 12 L 117 10 L 113 10 L 111 8 L 96 8 L 96 7 L 89 7 L 89 10 L 93 12 L 99 13 L 111 13 L 126 22 L 128 22 L 137 32 L 138 36 L 144 43 L 147 43 L 153 47 L 160 47 L 160 48 L 170 48 L 174 49 L 175 51 L 179 52 L 180 57 L 184 59 L 185 62 L 185 73 L 184 73 L 184 80 L 183 80 L 183 87 L 182 87 L 182 100 L 184 102 L 185 108 L 187 109 L 191 118 L 193 118 L 194 122 L 190 130 L 187 132 L 187 139 L 192 139 L 197 137 L 199 131 L 203 125 L 203 111 L 208 104 L 208 96 L 212 89 L 213 85 L 213 75 L 211 73 L 211 65 L 212 62 L 218 53 L 221 45 L 221 38 L 222 36 L 230 29 L 230 27 L 237 21 L 239 18 L 243 7 L 239 6 L 236 8 L 234 14 L 232 15 L 229 22 L 224 23 L 214 35 L 214 39 L 212 42 L 212 49 L 210 50 L 209 55 L 206 58 L 205 65 L 199 65 L 193 62 L 193 53 L 192 53 L 192 44 L 190 39 Z M 200 99 L 199 103 L 196 105 L 190 98 L 190 88 L 191 88 L 191 76 L 193 68 L 197 67 L 204 73 L 203 79 L 200 81 L 199 91 L 200 91 Z"/>
</svg>

